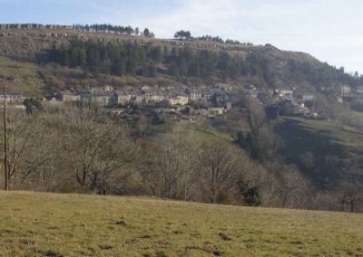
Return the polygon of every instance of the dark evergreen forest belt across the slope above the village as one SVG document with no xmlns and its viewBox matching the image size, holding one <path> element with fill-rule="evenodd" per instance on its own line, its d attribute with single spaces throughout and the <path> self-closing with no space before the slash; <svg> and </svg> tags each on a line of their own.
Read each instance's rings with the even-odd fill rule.
<svg viewBox="0 0 363 257">
<path fill-rule="evenodd" d="M 67 67 L 81 67 L 85 71 L 118 76 L 170 75 L 176 79 L 215 77 L 232 81 L 257 76 L 272 87 L 278 79 L 273 58 L 262 52 L 231 55 L 224 51 L 161 47 L 152 43 L 141 45 L 74 40 L 69 45 L 54 46 L 38 53 L 37 62 L 56 62 Z M 282 75 L 290 81 L 307 81 L 315 87 L 338 83 L 356 87 L 363 83 L 362 76 L 350 75 L 344 68 L 337 69 L 327 63 L 317 66 L 292 59 L 286 63 L 286 71 Z"/>
</svg>

